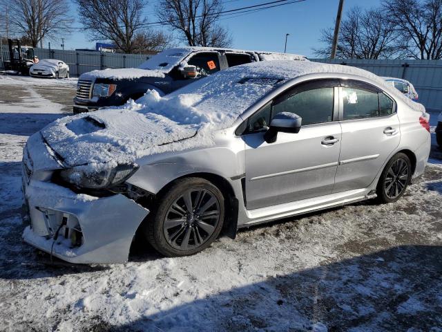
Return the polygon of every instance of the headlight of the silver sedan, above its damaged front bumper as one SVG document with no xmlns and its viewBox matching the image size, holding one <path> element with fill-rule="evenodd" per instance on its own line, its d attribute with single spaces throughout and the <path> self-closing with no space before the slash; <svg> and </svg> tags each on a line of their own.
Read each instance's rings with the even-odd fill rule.
<svg viewBox="0 0 442 332">
<path fill-rule="evenodd" d="M 94 169 L 88 165 L 61 169 L 59 176 L 63 181 L 81 188 L 102 189 L 113 187 L 126 181 L 138 169 L 136 164 L 117 165 L 114 168 Z"/>
</svg>

